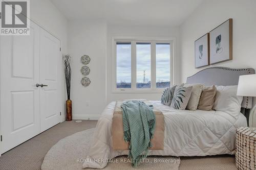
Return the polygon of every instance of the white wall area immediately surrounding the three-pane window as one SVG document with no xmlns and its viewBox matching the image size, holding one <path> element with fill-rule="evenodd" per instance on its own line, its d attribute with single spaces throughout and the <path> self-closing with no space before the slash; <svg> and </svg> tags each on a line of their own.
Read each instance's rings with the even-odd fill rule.
<svg viewBox="0 0 256 170">
<path fill-rule="evenodd" d="M 177 27 L 108 25 L 107 60 L 106 60 L 106 103 L 124 99 L 160 100 L 161 93 L 113 93 L 112 92 L 112 37 L 176 37 L 179 43 Z M 176 49 L 178 52 L 178 48 Z M 176 55 L 179 65 L 179 53 Z M 178 82 L 179 76 L 177 76 Z"/>
</svg>

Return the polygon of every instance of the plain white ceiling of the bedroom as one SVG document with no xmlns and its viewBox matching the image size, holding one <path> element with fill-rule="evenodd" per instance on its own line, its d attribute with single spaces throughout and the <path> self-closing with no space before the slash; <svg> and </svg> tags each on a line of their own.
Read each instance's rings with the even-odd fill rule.
<svg viewBox="0 0 256 170">
<path fill-rule="evenodd" d="M 179 26 L 203 0 L 50 0 L 69 20 Z"/>
</svg>

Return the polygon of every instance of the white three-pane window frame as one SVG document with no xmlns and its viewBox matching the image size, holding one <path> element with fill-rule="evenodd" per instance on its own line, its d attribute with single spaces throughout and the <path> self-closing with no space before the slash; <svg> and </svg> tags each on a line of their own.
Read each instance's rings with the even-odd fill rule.
<svg viewBox="0 0 256 170">
<path fill-rule="evenodd" d="M 131 42 L 131 88 L 116 87 L 116 43 Z M 136 88 L 137 62 L 136 43 L 151 43 L 151 88 Z M 156 87 L 156 44 L 170 44 L 170 85 L 176 83 L 176 38 L 175 37 L 112 37 L 112 92 L 113 93 L 161 93 L 164 88 Z"/>
</svg>

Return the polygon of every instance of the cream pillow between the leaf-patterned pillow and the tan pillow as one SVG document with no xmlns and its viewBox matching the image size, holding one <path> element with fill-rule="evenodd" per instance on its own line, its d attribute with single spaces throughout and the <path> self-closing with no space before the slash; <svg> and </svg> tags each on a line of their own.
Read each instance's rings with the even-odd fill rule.
<svg viewBox="0 0 256 170">
<path fill-rule="evenodd" d="M 187 108 L 188 110 L 197 110 L 197 106 L 200 100 L 200 95 L 203 90 L 203 85 L 202 84 L 184 84 L 184 87 L 189 87 L 192 86 L 192 92 L 190 99 L 187 103 Z"/>
</svg>

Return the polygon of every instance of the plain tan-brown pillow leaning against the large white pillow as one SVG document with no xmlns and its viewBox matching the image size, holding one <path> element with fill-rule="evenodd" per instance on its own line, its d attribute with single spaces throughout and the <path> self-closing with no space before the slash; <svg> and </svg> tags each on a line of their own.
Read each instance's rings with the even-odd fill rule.
<svg viewBox="0 0 256 170">
<path fill-rule="evenodd" d="M 216 91 L 215 85 L 204 87 L 197 108 L 200 110 L 211 110 L 212 106 L 214 106 Z"/>
</svg>

